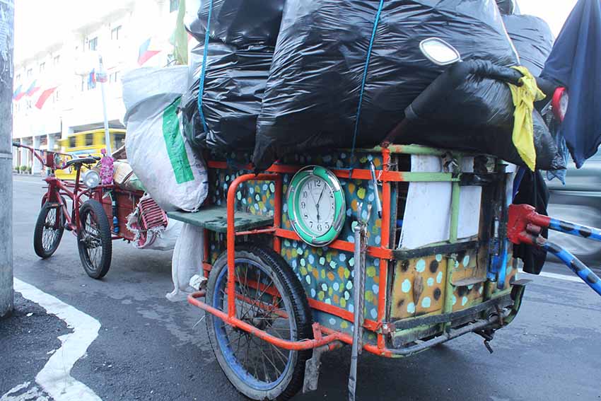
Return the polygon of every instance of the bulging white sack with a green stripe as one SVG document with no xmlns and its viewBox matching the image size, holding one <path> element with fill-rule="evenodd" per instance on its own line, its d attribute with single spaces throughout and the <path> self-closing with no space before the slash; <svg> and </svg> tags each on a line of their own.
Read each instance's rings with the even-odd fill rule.
<svg viewBox="0 0 601 401">
<path fill-rule="evenodd" d="M 127 160 L 165 211 L 196 211 L 208 190 L 206 166 L 182 135 L 178 115 L 187 66 L 144 68 L 123 77 Z"/>
</svg>

